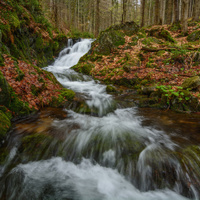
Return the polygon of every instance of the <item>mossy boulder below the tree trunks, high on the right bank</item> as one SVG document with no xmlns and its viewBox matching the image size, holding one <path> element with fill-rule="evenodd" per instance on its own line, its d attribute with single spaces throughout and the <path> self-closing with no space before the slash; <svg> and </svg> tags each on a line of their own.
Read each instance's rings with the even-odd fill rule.
<svg viewBox="0 0 200 200">
<path fill-rule="evenodd" d="M 148 36 L 156 37 L 158 39 L 164 39 L 168 42 L 175 43 L 175 40 L 169 33 L 169 31 L 163 28 L 154 28 L 148 31 Z"/>
</svg>

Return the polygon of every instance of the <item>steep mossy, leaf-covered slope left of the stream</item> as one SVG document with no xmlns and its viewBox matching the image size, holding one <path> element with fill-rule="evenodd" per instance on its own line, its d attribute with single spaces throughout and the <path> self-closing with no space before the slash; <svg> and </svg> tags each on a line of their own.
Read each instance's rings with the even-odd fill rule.
<svg viewBox="0 0 200 200">
<path fill-rule="evenodd" d="M 47 66 L 67 43 L 45 19 L 38 0 L 0 1 L 0 139 L 13 116 L 60 106 L 74 94 Z"/>
</svg>

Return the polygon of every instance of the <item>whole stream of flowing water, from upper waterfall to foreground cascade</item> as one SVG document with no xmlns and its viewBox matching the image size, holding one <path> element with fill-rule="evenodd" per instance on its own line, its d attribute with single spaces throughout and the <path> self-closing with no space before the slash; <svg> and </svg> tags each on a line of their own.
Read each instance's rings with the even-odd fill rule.
<svg viewBox="0 0 200 200">
<path fill-rule="evenodd" d="M 199 116 L 139 109 L 70 69 L 91 43 L 46 68 L 78 102 L 16 120 L 1 144 L 0 199 L 198 200 Z"/>
</svg>

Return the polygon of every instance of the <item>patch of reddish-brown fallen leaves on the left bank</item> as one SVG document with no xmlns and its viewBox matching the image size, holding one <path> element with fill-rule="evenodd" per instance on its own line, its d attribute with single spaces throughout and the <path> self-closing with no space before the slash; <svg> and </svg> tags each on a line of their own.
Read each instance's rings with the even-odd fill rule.
<svg viewBox="0 0 200 200">
<path fill-rule="evenodd" d="M 22 60 L 18 60 L 17 64 L 7 55 L 4 55 L 4 59 L 5 66 L 0 68 L 1 72 L 22 101 L 29 103 L 30 108 L 39 109 L 49 105 L 52 97 L 60 94 L 60 85 L 49 80 L 47 72 Z M 24 74 L 21 81 L 17 81 L 19 71 Z"/>
</svg>

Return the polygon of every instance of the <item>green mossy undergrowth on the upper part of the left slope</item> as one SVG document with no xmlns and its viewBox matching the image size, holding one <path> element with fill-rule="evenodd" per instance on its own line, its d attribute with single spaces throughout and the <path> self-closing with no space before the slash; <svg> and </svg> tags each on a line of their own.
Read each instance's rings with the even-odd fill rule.
<svg viewBox="0 0 200 200">
<path fill-rule="evenodd" d="M 60 34 L 53 38 L 54 28 L 44 17 L 38 0 L 4 1 L 0 19 L 4 21 L 0 23 L 0 54 L 29 63 L 37 60 L 40 67 L 52 62 L 59 43 L 67 40 L 67 36 L 62 38 Z"/>
</svg>

